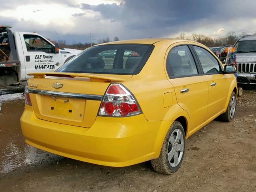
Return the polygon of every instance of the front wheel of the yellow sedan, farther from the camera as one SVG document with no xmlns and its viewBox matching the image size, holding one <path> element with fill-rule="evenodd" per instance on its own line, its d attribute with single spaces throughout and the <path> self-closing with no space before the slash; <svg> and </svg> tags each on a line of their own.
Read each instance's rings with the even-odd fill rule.
<svg viewBox="0 0 256 192">
<path fill-rule="evenodd" d="M 225 113 L 221 114 L 218 119 L 225 122 L 230 122 L 234 119 L 236 113 L 236 94 L 233 91 L 229 100 L 228 108 Z"/>
</svg>

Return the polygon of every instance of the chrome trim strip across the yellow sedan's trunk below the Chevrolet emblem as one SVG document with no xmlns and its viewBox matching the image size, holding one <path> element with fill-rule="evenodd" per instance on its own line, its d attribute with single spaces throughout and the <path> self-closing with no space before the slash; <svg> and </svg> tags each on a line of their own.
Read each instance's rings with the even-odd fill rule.
<svg viewBox="0 0 256 192">
<path fill-rule="evenodd" d="M 28 88 L 29 93 L 40 94 L 40 95 L 49 95 L 49 96 L 59 96 L 59 97 L 68 97 L 68 98 L 78 98 L 86 100 L 102 100 L 102 95 L 90 95 L 90 94 L 78 94 L 78 93 L 66 93 L 66 92 L 57 92 L 57 91 L 46 91 L 40 89 L 30 89 Z"/>
</svg>

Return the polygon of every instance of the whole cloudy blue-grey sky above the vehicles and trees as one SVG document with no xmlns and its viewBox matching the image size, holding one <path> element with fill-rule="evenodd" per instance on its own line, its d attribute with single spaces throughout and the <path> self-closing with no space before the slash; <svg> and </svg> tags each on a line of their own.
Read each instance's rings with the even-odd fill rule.
<svg viewBox="0 0 256 192">
<path fill-rule="evenodd" d="M 51 40 L 211 37 L 256 32 L 255 0 L 0 0 L 0 25 Z"/>
</svg>

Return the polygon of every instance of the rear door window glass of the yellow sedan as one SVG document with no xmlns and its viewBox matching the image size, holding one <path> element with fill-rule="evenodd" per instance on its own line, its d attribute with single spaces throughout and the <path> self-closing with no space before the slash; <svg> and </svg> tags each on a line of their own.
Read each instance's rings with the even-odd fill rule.
<svg viewBox="0 0 256 192">
<path fill-rule="evenodd" d="M 170 50 L 166 60 L 169 76 L 188 76 L 198 74 L 194 58 L 187 45 L 177 46 Z"/>
</svg>

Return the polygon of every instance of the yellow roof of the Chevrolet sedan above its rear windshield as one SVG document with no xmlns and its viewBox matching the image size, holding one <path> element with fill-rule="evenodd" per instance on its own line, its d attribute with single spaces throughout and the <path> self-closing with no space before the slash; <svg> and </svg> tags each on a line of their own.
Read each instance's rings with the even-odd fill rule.
<svg viewBox="0 0 256 192">
<path fill-rule="evenodd" d="M 122 40 L 122 41 L 114 41 L 114 42 L 108 42 L 103 44 L 97 44 L 98 45 L 108 45 L 108 44 L 155 44 L 156 42 L 160 41 L 168 41 L 169 43 L 176 43 L 176 42 L 194 42 L 191 40 L 185 40 L 185 39 L 171 39 L 171 38 L 149 38 L 149 39 L 132 39 L 132 40 Z"/>
</svg>

